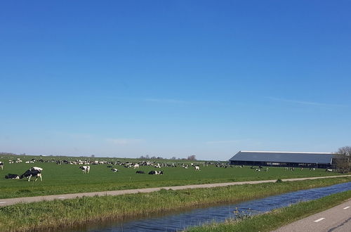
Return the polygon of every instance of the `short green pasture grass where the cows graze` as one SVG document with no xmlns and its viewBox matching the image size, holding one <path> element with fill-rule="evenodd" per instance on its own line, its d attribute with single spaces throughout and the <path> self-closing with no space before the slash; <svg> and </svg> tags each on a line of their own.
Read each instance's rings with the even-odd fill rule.
<svg viewBox="0 0 351 232">
<path fill-rule="evenodd" d="M 32 157 L 21 157 L 23 161 L 30 160 L 30 158 Z M 81 157 L 77 159 L 83 160 Z M 5 159 L 3 158 L 2 160 L 4 161 Z M 100 158 L 100 160 L 102 159 Z M 109 160 L 112 159 L 110 158 Z M 121 159 L 116 158 L 114 160 Z M 174 161 L 163 160 L 163 162 L 171 164 Z M 42 182 L 40 179 L 36 182 L 28 182 L 27 179 L 13 180 L 4 178 L 9 173 L 20 175 L 33 166 L 44 169 L 42 172 Z M 91 172 L 83 174 L 81 169 L 79 169 L 79 165 L 56 165 L 53 162 L 35 162 L 34 164 L 25 164 L 25 162 L 8 164 L 5 162 L 4 170 L 0 170 L 0 198 L 335 175 L 335 173 L 326 173 L 325 169 L 316 169 L 314 171 L 310 171 L 309 169 L 300 171 L 300 169 L 296 169 L 292 172 L 285 171 L 280 167 L 270 167 L 268 172 L 256 172 L 255 169 L 250 169 L 250 167 L 225 169 L 213 165 L 208 165 L 208 167 L 200 166 L 200 172 L 196 172 L 193 167 L 184 169 L 178 166 L 157 169 L 140 166 L 138 170 L 145 171 L 145 174 L 135 174 L 136 169 L 120 165 L 113 166 L 119 169 L 117 173 L 112 172 L 111 168 L 107 168 L 107 165 L 90 166 Z M 149 175 L 147 172 L 150 170 L 163 170 L 164 175 Z"/>
</svg>

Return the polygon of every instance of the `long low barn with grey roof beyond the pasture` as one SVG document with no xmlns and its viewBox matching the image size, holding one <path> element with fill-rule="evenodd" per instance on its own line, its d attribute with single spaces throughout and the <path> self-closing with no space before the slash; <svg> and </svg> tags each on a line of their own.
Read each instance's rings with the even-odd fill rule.
<svg viewBox="0 0 351 232">
<path fill-rule="evenodd" d="M 230 165 L 331 168 L 333 153 L 240 150 L 230 158 Z"/>
</svg>

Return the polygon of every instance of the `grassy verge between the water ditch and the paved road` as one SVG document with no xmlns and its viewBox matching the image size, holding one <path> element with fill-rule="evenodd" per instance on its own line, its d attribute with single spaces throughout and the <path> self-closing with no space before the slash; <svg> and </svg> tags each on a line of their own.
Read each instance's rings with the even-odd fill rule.
<svg viewBox="0 0 351 232">
<path fill-rule="evenodd" d="M 197 231 L 272 231 L 293 221 L 298 221 L 317 212 L 322 212 L 351 198 L 351 191 L 336 193 L 317 200 L 300 202 L 296 205 L 274 210 L 249 219 L 228 220 L 222 224 L 210 224 L 189 228 L 189 232 Z"/>
</svg>

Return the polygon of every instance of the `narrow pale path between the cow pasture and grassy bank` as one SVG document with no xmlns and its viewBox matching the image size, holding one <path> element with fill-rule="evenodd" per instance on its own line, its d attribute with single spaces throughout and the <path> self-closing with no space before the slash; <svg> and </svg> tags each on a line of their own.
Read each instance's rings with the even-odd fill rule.
<svg viewBox="0 0 351 232">
<path fill-rule="evenodd" d="M 324 179 L 324 178 L 336 178 L 343 176 L 351 175 L 341 175 L 341 176 L 319 176 L 319 177 L 305 177 L 305 178 L 294 178 L 294 179 L 282 179 L 282 181 L 303 181 L 307 179 Z M 104 192 L 94 192 L 94 193 L 69 193 L 62 195 L 41 195 L 36 197 L 27 197 L 27 198 L 6 198 L 0 199 L 0 207 L 6 205 L 14 205 L 19 202 L 39 202 L 42 200 L 65 200 L 71 198 L 81 198 L 83 196 L 92 197 L 95 195 L 104 196 L 104 195 L 123 195 L 131 193 L 151 193 L 155 191 L 160 191 L 161 189 L 166 190 L 180 190 L 186 188 L 213 188 L 213 187 L 223 187 L 223 186 L 235 186 L 240 184 L 256 184 L 256 183 L 270 183 L 275 182 L 276 180 L 266 180 L 266 181 L 240 181 L 240 182 L 230 182 L 230 183 L 205 183 L 205 184 L 196 184 L 189 186 L 168 186 L 168 187 L 157 187 L 157 188 L 136 188 L 136 189 L 127 189 L 127 190 L 117 190 L 117 191 L 104 191 Z"/>
</svg>

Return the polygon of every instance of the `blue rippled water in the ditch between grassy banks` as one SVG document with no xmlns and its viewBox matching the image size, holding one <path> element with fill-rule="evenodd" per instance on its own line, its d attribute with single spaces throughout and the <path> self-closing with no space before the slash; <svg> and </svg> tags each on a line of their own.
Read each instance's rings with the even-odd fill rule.
<svg viewBox="0 0 351 232">
<path fill-rule="evenodd" d="M 351 182 L 340 183 L 333 186 L 312 188 L 268 198 L 250 200 L 231 205 L 206 207 L 173 214 L 159 214 L 154 217 L 144 217 L 118 223 L 100 224 L 81 228 L 77 231 L 107 232 L 107 231 L 181 231 L 189 226 L 199 226 L 211 221 L 225 221 L 235 219 L 235 210 L 246 214 L 262 214 L 291 204 L 323 198 L 326 195 L 351 190 Z"/>
</svg>

